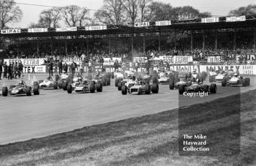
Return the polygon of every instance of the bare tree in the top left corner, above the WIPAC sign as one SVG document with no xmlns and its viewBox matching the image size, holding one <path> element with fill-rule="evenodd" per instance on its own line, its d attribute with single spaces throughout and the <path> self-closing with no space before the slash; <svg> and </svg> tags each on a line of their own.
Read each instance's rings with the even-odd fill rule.
<svg viewBox="0 0 256 166">
<path fill-rule="evenodd" d="M 0 1 L 0 23 L 1 29 L 6 28 L 8 23 L 17 23 L 23 16 L 20 7 L 17 6 L 14 0 Z"/>
</svg>

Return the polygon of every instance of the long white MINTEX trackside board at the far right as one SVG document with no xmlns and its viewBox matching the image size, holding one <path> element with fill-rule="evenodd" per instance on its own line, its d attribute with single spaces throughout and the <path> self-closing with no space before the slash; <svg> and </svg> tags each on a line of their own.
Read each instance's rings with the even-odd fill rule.
<svg viewBox="0 0 256 166">
<path fill-rule="evenodd" d="M 200 65 L 200 72 L 209 72 L 211 69 L 216 70 L 233 70 L 240 75 L 256 75 L 256 65 Z"/>
</svg>

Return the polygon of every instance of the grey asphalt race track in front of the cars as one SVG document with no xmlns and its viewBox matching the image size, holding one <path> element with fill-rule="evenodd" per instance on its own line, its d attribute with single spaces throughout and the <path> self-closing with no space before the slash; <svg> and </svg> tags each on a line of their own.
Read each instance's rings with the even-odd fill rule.
<svg viewBox="0 0 256 166">
<path fill-rule="evenodd" d="M 178 105 L 178 91 L 170 91 L 168 86 L 160 85 L 159 94 L 122 95 L 113 86 L 113 80 L 111 86 L 103 87 L 102 93 L 67 94 L 67 91 L 58 89 L 41 90 L 39 96 L 31 97 L 0 96 L 0 144 L 208 102 L 237 94 L 234 88 L 218 86 L 217 94 L 200 99 L 187 97 L 182 105 Z M 240 90 L 255 88 L 256 79 L 251 78 L 251 86 Z"/>
</svg>

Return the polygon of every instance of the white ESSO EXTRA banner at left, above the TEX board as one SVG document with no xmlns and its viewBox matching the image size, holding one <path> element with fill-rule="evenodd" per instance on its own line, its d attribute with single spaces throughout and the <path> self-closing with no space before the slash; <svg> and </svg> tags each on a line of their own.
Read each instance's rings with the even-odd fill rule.
<svg viewBox="0 0 256 166">
<path fill-rule="evenodd" d="M 45 63 L 44 59 L 4 59 L 4 62 L 7 62 L 7 65 L 10 65 L 12 62 L 18 62 L 23 64 L 23 66 L 39 66 Z"/>
</svg>

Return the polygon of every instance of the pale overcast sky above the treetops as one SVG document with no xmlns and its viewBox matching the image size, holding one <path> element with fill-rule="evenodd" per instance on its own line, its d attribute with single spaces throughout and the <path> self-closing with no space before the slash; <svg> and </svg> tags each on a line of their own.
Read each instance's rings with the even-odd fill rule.
<svg viewBox="0 0 256 166">
<path fill-rule="evenodd" d="M 95 10 L 102 7 L 103 0 L 15 0 L 17 3 L 40 4 L 47 6 L 61 7 L 70 4 L 76 4 L 80 7 L 87 7 L 91 10 L 91 15 Z M 248 4 L 256 4 L 256 0 L 156 0 L 170 3 L 173 7 L 192 6 L 200 10 L 200 12 L 211 12 L 212 15 L 227 15 L 230 10 L 244 7 Z M 37 7 L 25 4 L 18 4 L 23 11 L 23 18 L 19 23 L 9 25 L 16 28 L 27 28 L 30 23 L 37 23 L 39 13 L 50 7 Z"/>
</svg>

